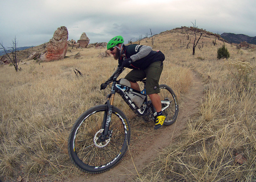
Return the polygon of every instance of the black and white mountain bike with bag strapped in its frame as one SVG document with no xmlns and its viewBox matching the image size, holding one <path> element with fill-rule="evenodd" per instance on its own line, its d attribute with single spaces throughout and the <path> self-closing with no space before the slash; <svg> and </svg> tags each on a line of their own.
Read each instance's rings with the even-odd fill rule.
<svg viewBox="0 0 256 182">
<path fill-rule="evenodd" d="M 129 146 L 130 124 L 125 114 L 113 106 L 116 93 L 145 122 L 155 121 L 156 109 L 146 95 L 146 79 L 141 80 L 144 83 L 142 91 L 134 90 L 128 80 L 117 80 L 123 70 L 117 68 L 112 76 L 101 84 L 101 90 L 108 85 L 111 87 L 106 103 L 85 111 L 71 129 L 68 154 L 72 163 L 82 171 L 100 173 L 109 170 L 124 157 Z M 170 125 L 178 117 L 178 101 L 169 86 L 159 86 L 162 112 L 166 116 L 164 125 Z"/>
</svg>

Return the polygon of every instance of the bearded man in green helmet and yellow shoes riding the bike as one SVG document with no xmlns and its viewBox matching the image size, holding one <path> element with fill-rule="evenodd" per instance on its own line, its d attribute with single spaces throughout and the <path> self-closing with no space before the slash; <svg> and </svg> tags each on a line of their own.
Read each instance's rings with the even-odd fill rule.
<svg viewBox="0 0 256 182">
<path fill-rule="evenodd" d="M 112 38 L 107 49 L 118 60 L 118 67 L 132 69 L 124 78 L 131 83 L 131 88 L 140 91 L 137 81 L 147 78 L 146 93 L 153 106 L 156 108 L 156 123 L 154 129 L 163 126 L 165 116 L 162 113 L 160 101 L 159 79 L 163 70 L 164 54 L 161 51 L 153 51 L 152 47 L 132 44 L 124 45 L 122 36 Z"/>
</svg>

